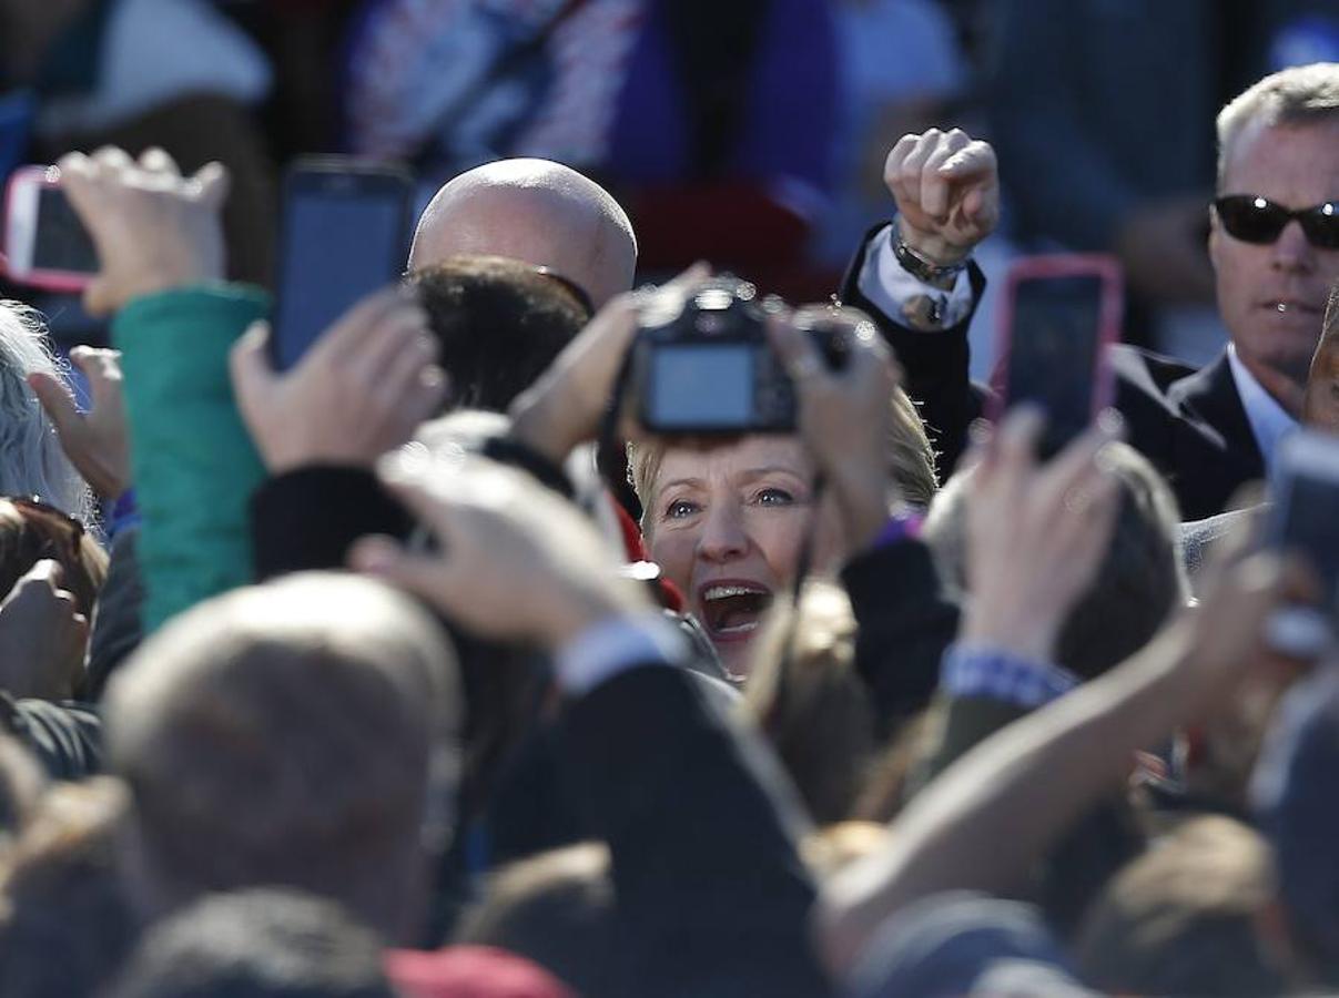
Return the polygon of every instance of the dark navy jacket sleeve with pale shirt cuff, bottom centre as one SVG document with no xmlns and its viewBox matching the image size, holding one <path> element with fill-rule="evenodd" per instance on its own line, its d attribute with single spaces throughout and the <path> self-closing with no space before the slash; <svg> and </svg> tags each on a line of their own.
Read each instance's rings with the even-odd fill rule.
<svg viewBox="0 0 1339 998">
<path fill-rule="evenodd" d="M 564 765 L 609 844 L 628 994 L 829 991 L 806 926 L 798 811 L 761 742 L 694 680 L 635 668 L 572 704 Z"/>
</svg>

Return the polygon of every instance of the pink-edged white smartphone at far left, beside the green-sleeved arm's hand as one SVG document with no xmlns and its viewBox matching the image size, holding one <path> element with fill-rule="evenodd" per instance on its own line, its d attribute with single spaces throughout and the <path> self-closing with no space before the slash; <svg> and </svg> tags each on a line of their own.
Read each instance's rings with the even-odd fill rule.
<svg viewBox="0 0 1339 998">
<path fill-rule="evenodd" d="M 17 284 L 80 292 L 98 274 L 98 250 L 60 189 L 60 170 L 24 166 L 5 191 L 5 272 Z"/>
</svg>

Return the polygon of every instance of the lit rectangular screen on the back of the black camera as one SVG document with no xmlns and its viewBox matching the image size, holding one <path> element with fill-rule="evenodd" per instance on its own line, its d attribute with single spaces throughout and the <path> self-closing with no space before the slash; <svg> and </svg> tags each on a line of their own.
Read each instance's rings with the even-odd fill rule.
<svg viewBox="0 0 1339 998">
<path fill-rule="evenodd" d="M 647 416 L 656 428 L 731 429 L 753 421 L 753 345 L 657 344 L 649 360 Z"/>
</svg>

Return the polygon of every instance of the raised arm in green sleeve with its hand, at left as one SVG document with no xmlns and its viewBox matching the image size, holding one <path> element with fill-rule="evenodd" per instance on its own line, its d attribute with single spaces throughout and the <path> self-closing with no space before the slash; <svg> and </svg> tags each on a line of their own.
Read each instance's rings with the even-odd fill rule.
<svg viewBox="0 0 1339 998">
<path fill-rule="evenodd" d="M 246 500 L 264 470 L 228 385 L 228 349 L 269 305 L 222 284 L 224 169 L 182 177 L 162 150 L 60 162 L 70 201 L 92 235 L 100 272 L 84 296 L 115 316 L 143 514 L 145 627 L 250 581 Z"/>
</svg>

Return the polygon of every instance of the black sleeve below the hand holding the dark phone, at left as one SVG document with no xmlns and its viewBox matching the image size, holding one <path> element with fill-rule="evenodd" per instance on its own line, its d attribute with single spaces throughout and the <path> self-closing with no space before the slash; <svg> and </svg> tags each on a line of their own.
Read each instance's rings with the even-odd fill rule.
<svg viewBox="0 0 1339 998">
<path fill-rule="evenodd" d="M 262 582 L 344 567 L 367 534 L 406 538 L 408 511 L 364 468 L 308 467 L 266 479 L 250 503 L 252 559 Z"/>
</svg>

